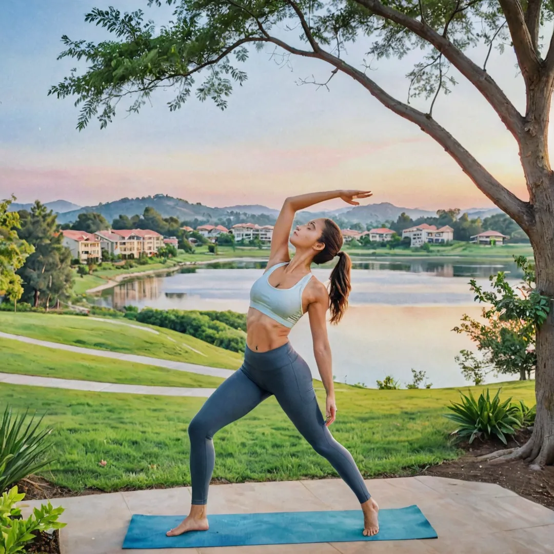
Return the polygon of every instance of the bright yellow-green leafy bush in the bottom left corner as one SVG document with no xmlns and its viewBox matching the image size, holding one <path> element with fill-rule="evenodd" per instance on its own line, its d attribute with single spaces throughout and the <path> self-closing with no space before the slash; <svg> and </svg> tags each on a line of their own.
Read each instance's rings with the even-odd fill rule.
<svg viewBox="0 0 554 554">
<path fill-rule="evenodd" d="M 64 509 L 54 508 L 48 502 L 40 508 L 35 508 L 33 514 L 26 520 L 21 516 L 21 510 L 15 507 L 24 499 L 25 494 L 18 494 L 17 486 L 0 497 L 0 552 L 16 554 L 22 552 L 24 546 L 34 541 L 39 532 L 61 529 L 66 524 L 58 521 Z"/>
</svg>

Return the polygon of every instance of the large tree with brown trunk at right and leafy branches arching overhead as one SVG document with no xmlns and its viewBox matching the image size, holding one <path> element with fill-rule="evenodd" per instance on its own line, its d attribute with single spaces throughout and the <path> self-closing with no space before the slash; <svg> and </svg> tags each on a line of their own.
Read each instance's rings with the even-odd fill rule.
<svg viewBox="0 0 554 554">
<path fill-rule="evenodd" d="M 128 111 L 138 112 L 158 88 L 172 86 L 176 96 L 168 102 L 177 110 L 193 94 L 194 80 L 201 100 L 212 99 L 220 109 L 227 106 L 232 83 L 243 84 L 247 75 L 238 64 L 248 57 L 248 46 L 275 49 L 284 64 L 298 56 L 324 61 L 331 74 L 349 76 L 381 104 L 417 125 L 458 163 L 461 170 L 492 202 L 508 214 L 529 236 L 536 263 L 536 286 L 554 298 L 554 172 L 547 149 L 548 116 L 554 89 L 554 37 L 542 40 L 544 24 L 554 16 L 545 0 L 149 0 L 148 4 L 174 4 L 170 24 L 159 29 L 143 20 L 143 13 L 121 14 L 115 8 L 94 8 L 86 21 L 102 25 L 111 40 L 95 44 L 71 40 L 60 58 L 86 59 L 86 69 L 71 71 L 49 94 L 76 96 L 81 106 L 77 127 L 82 130 L 93 117 L 105 127 L 116 106 L 129 100 Z M 541 29 L 542 26 L 542 29 Z M 289 41 L 286 30 L 293 35 Z M 551 30 L 547 29 L 550 33 Z M 297 40 L 298 33 L 301 40 Z M 374 38 L 377 40 L 374 40 Z M 349 63 L 348 43 L 367 42 L 365 52 L 377 59 L 403 57 L 421 52 L 408 73 L 408 98 L 432 98 L 422 111 L 394 98 L 372 78 L 367 61 Z M 526 106 L 521 113 L 486 70 L 489 56 L 480 66 L 468 51 L 479 42 L 502 52 L 505 44 L 514 51 L 525 86 Z M 545 47 L 543 47 L 543 44 Z M 513 45 L 513 46 L 512 46 Z M 231 57 L 234 56 L 234 59 Z M 236 61 L 235 61 L 236 60 Z M 361 68 L 360 68 L 360 65 Z M 454 68 L 469 81 L 514 137 L 529 201 L 518 198 L 479 163 L 433 117 L 440 92 L 447 94 L 456 83 L 448 74 Z M 206 71 L 204 71 L 206 70 Z M 315 79 L 301 84 L 318 85 Z M 476 123 L 475 133 L 482 129 Z M 554 313 L 537 329 L 537 418 L 530 440 L 513 457 L 535 466 L 554 463 Z"/>
</svg>

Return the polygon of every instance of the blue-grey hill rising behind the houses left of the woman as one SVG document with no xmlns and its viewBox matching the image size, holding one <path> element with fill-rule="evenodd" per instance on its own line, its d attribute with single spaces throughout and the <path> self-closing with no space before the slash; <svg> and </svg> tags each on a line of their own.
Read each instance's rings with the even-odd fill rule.
<svg viewBox="0 0 554 554">
<path fill-rule="evenodd" d="M 132 217 L 135 214 L 142 215 L 146 207 L 154 208 L 162 217 L 175 216 L 184 219 L 216 219 L 227 216 L 227 209 L 210 208 L 200 202 L 191 204 L 181 198 L 173 198 L 166 194 L 155 196 L 143 196 L 141 198 L 121 198 L 114 202 L 100 203 L 97 206 L 85 206 L 71 212 L 65 212 L 58 217 L 60 223 L 75 221 L 80 213 L 96 212 L 102 214 L 110 223 L 120 215 Z"/>
</svg>

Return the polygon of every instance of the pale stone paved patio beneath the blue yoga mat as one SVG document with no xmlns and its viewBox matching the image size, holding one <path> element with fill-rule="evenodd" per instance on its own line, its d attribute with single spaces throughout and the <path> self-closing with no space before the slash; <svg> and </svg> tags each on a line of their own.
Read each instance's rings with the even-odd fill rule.
<svg viewBox="0 0 554 554">
<path fill-rule="evenodd" d="M 417 504 L 439 538 L 412 541 L 337 542 L 191 548 L 194 554 L 552 554 L 554 511 L 499 485 L 441 477 L 366 481 L 379 506 Z M 24 501 L 27 517 L 41 500 Z M 184 515 L 191 489 L 156 489 L 52 500 L 63 506 L 62 554 L 177 554 L 174 548 L 122 550 L 131 514 Z M 208 514 L 356 510 L 360 504 L 341 480 L 215 485 Z"/>
</svg>

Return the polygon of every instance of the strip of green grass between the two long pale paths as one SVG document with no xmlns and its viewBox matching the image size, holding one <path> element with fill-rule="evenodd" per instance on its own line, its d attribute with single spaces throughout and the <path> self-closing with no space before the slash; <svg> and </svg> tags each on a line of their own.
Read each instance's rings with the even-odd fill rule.
<svg viewBox="0 0 554 554">
<path fill-rule="evenodd" d="M 0 351 L 0 371 L 5 373 L 161 387 L 215 388 L 223 381 L 218 377 L 168 370 L 142 363 L 99 358 L 44 346 L 23 345 L 8 338 L 0 338 Z"/>
</svg>

